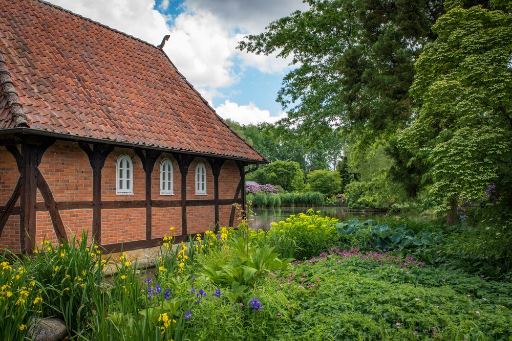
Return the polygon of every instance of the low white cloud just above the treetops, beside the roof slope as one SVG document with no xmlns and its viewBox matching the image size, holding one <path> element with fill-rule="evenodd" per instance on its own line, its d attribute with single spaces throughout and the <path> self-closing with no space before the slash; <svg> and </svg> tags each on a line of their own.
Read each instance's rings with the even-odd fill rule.
<svg viewBox="0 0 512 341">
<path fill-rule="evenodd" d="M 279 116 L 270 116 L 270 111 L 258 108 L 253 102 L 250 102 L 249 105 L 238 105 L 226 100 L 216 107 L 215 111 L 223 119 L 230 119 L 241 124 L 275 123 L 286 117 L 285 112 L 280 112 Z"/>
</svg>

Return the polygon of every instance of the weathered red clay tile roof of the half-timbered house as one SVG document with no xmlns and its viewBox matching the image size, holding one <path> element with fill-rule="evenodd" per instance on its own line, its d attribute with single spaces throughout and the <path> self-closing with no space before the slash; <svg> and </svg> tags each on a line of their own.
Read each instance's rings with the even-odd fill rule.
<svg viewBox="0 0 512 341">
<path fill-rule="evenodd" d="M 161 49 L 37 0 L 0 1 L 0 129 L 266 162 Z"/>
</svg>

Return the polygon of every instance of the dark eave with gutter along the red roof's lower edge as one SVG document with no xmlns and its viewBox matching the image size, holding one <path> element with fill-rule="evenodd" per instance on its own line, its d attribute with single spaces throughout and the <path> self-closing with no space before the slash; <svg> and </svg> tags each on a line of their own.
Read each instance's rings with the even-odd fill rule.
<svg viewBox="0 0 512 341">
<path fill-rule="evenodd" d="M 203 156 L 203 157 L 219 157 L 219 158 L 225 158 L 227 160 L 243 161 L 243 162 L 246 162 L 247 164 L 268 164 L 269 163 L 269 161 L 266 158 L 265 158 L 265 160 L 256 160 L 256 159 L 252 159 L 252 158 L 245 158 L 245 157 L 238 157 L 238 156 L 203 153 L 203 152 L 195 152 L 195 151 L 184 150 L 184 149 L 165 148 L 165 147 L 143 145 L 143 144 L 136 144 L 136 143 L 130 143 L 130 142 L 88 138 L 88 137 L 82 137 L 82 136 L 71 135 L 71 134 L 63 134 L 63 133 L 53 132 L 53 131 L 48 131 L 48 130 L 39 130 L 39 129 L 32 129 L 32 128 L 24 128 L 24 127 L 0 129 L 0 135 L 11 135 L 11 134 L 31 134 L 31 135 L 41 136 L 41 137 L 51 137 L 51 138 L 55 138 L 55 139 L 63 140 L 63 141 L 83 141 L 83 142 L 89 142 L 89 143 L 104 143 L 104 144 L 110 144 L 110 145 L 114 145 L 116 147 L 124 147 L 124 148 L 144 148 L 144 149 L 160 150 L 160 151 L 164 151 L 164 152 L 191 154 L 191 155 L 197 155 L 197 156 Z"/>
</svg>

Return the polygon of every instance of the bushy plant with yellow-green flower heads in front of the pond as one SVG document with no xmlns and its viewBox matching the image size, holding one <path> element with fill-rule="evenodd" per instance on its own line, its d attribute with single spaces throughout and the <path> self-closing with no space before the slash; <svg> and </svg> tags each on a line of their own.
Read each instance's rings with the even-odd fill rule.
<svg viewBox="0 0 512 341">
<path fill-rule="evenodd" d="M 289 235 L 296 242 L 297 259 L 306 259 L 325 251 L 337 242 L 335 218 L 322 217 L 320 211 L 292 215 L 285 221 L 271 224 L 275 236 Z"/>
</svg>

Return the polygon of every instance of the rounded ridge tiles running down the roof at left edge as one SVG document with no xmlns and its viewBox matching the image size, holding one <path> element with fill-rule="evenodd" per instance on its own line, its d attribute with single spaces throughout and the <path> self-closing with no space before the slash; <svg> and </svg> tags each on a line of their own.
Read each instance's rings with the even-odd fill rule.
<svg viewBox="0 0 512 341">
<path fill-rule="evenodd" d="M 0 38 L 0 42 L 3 40 Z M 2 46 L 1 44 L 0 46 Z M 7 67 L 7 62 L 0 49 L 0 86 L 4 90 L 4 96 L 7 99 L 7 105 L 14 122 L 14 128 L 28 127 L 27 116 L 23 111 L 22 103 L 19 101 L 18 92 L 14 87 L 14 81 L 12 80 L 11 73 Z"/>
</svg>

